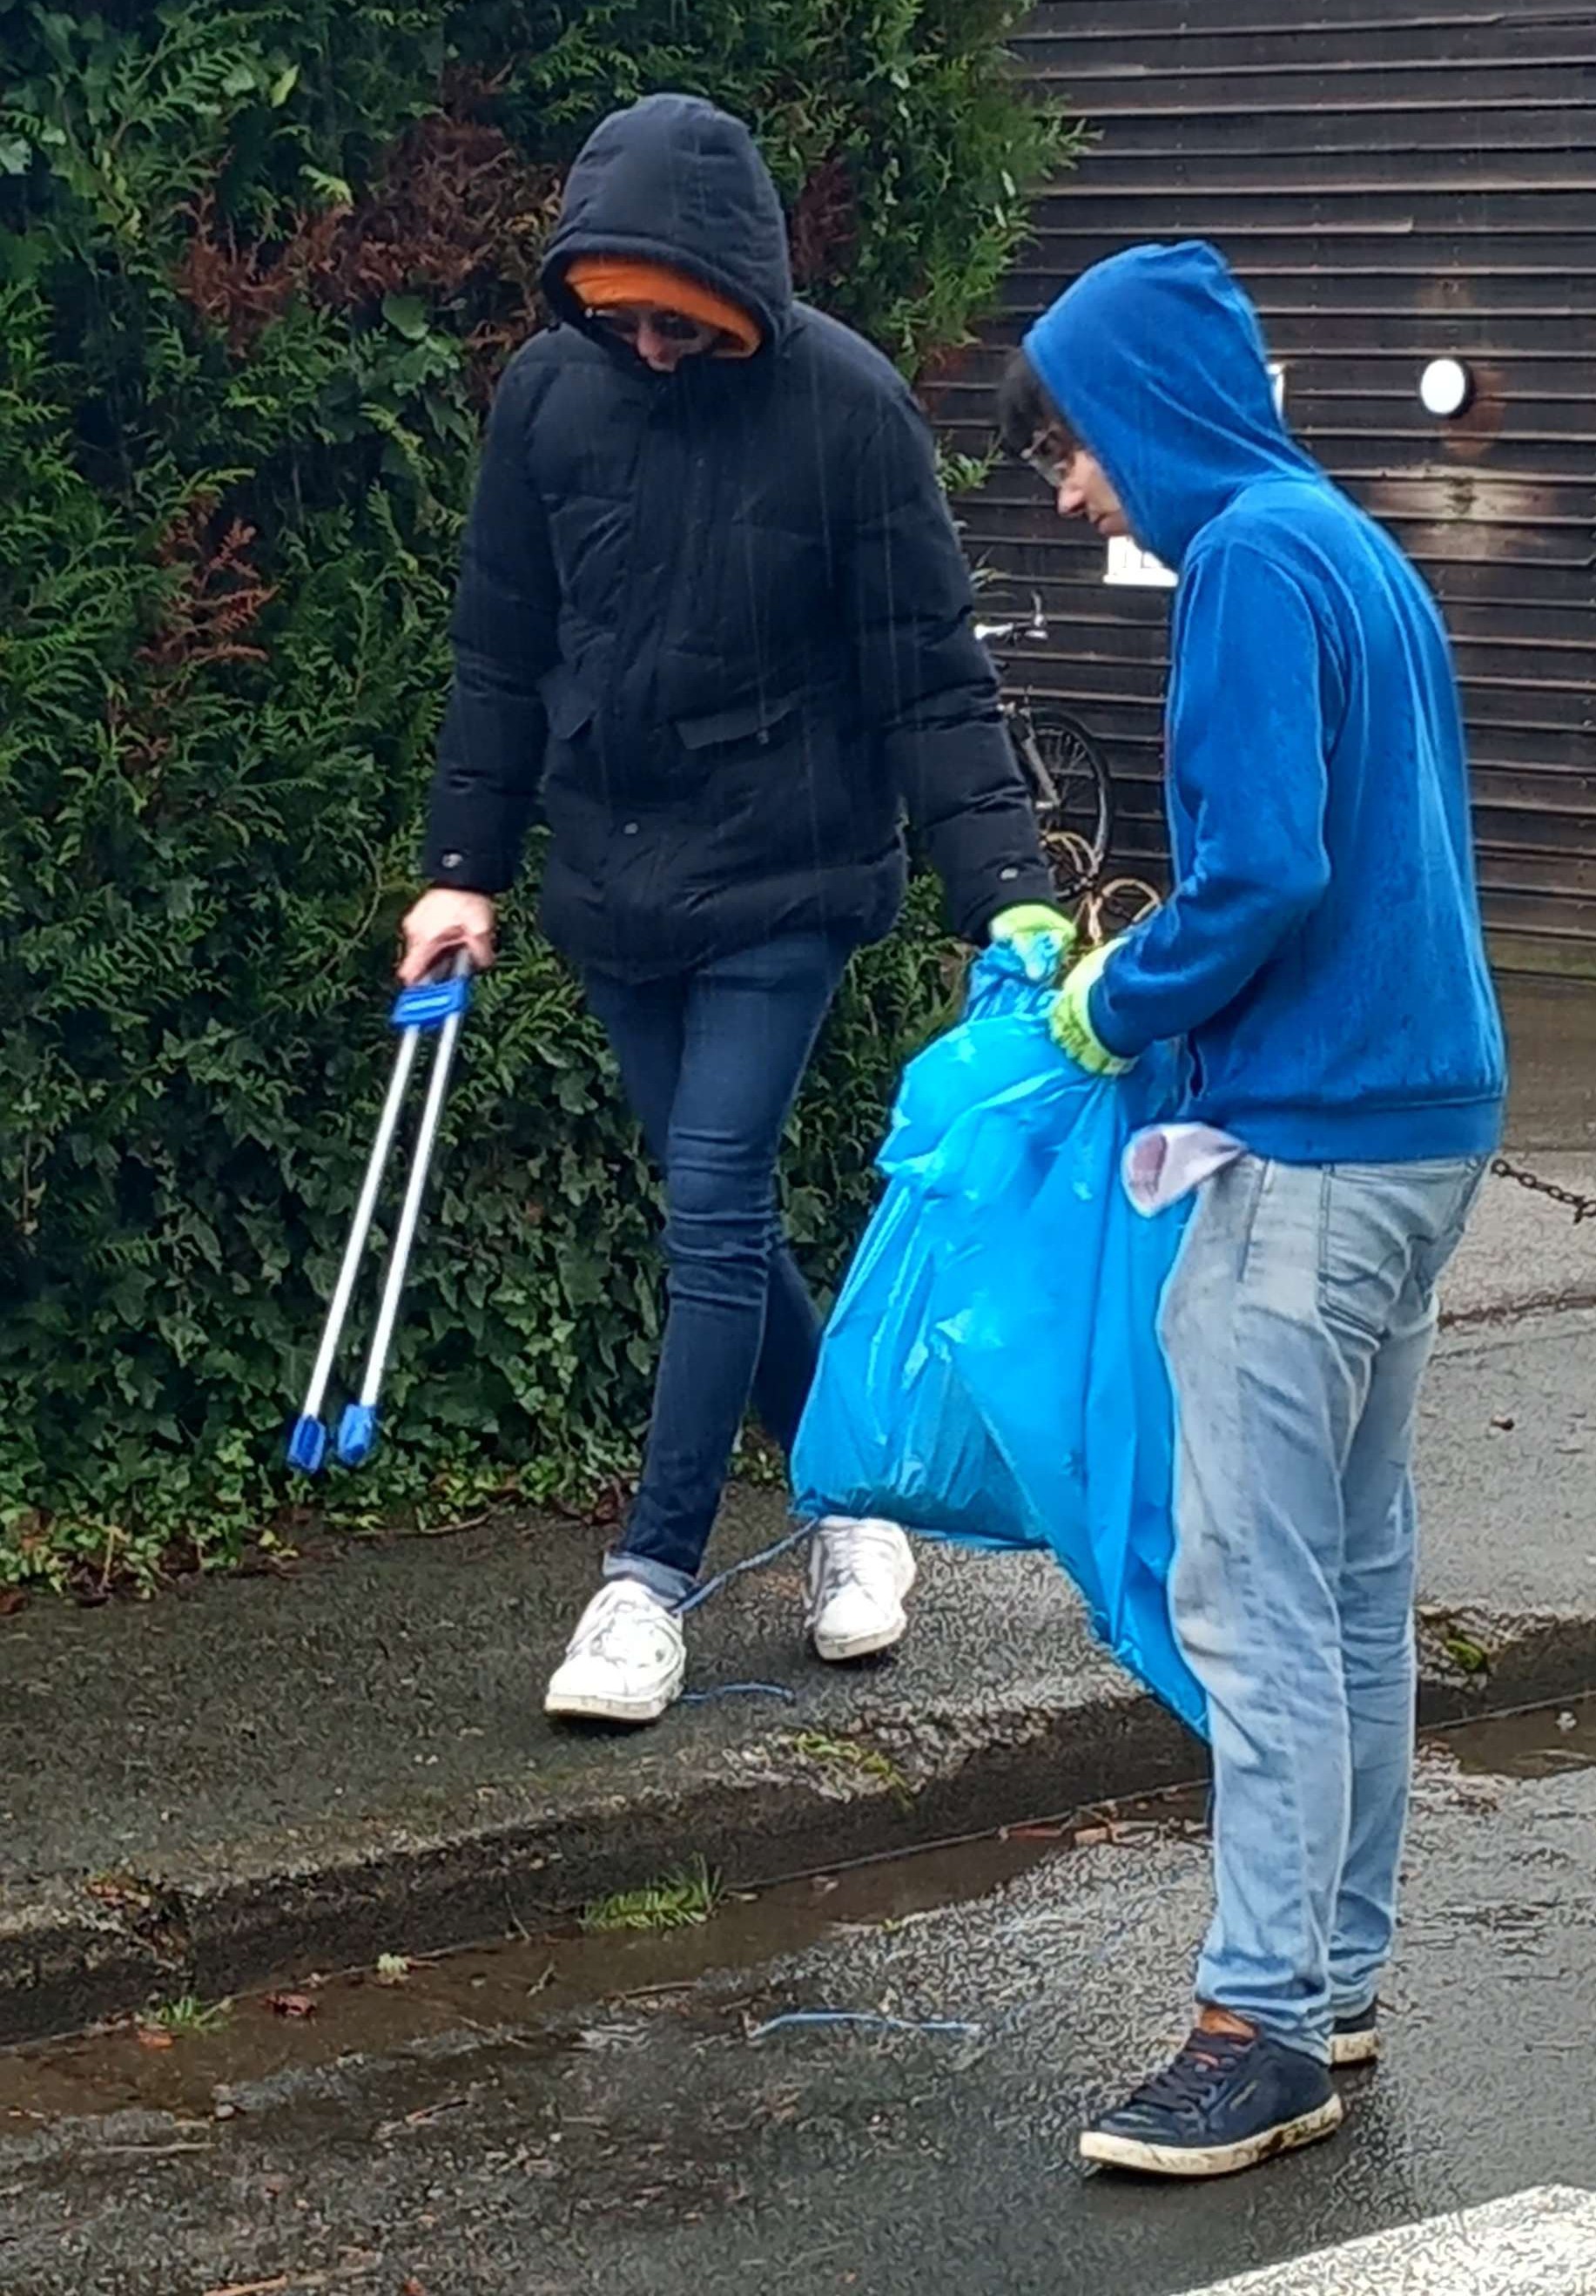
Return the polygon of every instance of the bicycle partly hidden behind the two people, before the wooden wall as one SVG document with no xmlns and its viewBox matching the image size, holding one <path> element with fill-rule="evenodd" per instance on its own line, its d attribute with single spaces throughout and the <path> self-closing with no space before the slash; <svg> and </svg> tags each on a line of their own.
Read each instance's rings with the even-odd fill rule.
<svg viewBox="0 0 1596 2296">
<path fill-rule="evenodd" d="M 1008 666 L 1008 647 L 1047 641 L 1040 597 L 1031 597 L 1031 620 L 976 622 L 976 636 Z M 1114 845 L 1114 776 L 1091 732 L 1056 703 L 1015 696 L 1004 684 L 1004 719 L 1024 774 L 1043 852 L 1054 875 L 1059 905 L 1079 909 L 1086 941 L 1114 939 L 1157 907 L 1157 893 L 1141 877 L 1105 877 Z"/>
</svg>

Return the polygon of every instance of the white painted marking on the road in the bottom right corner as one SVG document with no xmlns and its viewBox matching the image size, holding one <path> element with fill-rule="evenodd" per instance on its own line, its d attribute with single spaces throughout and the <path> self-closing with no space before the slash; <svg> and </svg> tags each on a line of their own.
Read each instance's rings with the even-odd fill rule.
<svg viewBox="0 0 1596 2296">
<path fill-rule="evenodd" d="M 1516 2193 L 1247 2273 L 1203 2296 L 1596 2296 L 1596 2193 Z"/>
</svg>

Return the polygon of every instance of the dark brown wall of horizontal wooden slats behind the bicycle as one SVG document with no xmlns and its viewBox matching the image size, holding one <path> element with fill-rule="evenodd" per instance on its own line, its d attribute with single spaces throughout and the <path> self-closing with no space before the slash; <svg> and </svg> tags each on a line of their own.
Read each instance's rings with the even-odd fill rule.
<svg viewBox="0 0 1596 2296">
<path fill-rule="evenodd" d="M 1300 436 L 1447 608 L 1500 960 L 1596 974 L 1596 5 L 1054 0 L 1017 48 L 1093 142 L 937 418 L 985 448 L 1006 349 L 1077 271 L 1217 241 Z M 1461 422 L 1419 404 L 1442 354 L 1481 381 Z M 1105 739 L 1123 856 L 1157 856 L 1169 595 L 1107 588 L 1029 473 L 960 514 L 992 599 L 1043 595 L 1029 682 Z"/>
</svg>

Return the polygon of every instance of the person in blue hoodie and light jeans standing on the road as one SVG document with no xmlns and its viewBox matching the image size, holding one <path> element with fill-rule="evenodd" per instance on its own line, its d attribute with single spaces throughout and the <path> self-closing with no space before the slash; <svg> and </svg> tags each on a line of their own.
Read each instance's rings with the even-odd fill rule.
<svg viewBox="0 0 1596 2296">
<path fill-rule="evenodd" d="M 1435 1283 L 1500 1137 L 1502 1024 L 1442 618 L 1291 439 L 1224 259 L 1146 246 L 1088 271 L 1024 338 L 1001 422 L 1066 517 L 1178 574 L 1173 891 L 1075 964 L 1054 1033 L 1098 1072 L 1183 1040 L 1183 1114 L 1231 1155 L 1162 1311 L 1217 1910 L 1185 2048 L 1082 2135 L 1088 2161 L 1213 2177 L 1330 2135 L 1332 2066 L 1378 2053 L 1412 1435 Z"/>
</svg>

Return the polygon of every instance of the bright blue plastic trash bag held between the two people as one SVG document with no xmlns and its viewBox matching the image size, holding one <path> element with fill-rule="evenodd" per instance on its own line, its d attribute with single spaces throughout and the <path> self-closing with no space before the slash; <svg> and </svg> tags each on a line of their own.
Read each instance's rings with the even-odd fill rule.
<svg viewBox="0 0 1596 2296">
<path fill-rule="evenodd" d="M 1010 948 L 985 951 L 964 1017 L 905 1072 L 886 1194 L 792 1453 L 795 1506 L 1049 1550 L 1121 1665 L 1206 1733 L 1169 1621 L 1157 1339 L 1190 1205 L 1146 1219 L 1121 1185 L 1130 1137 L 1178 1104 L 1178 1058 L 1088 1077 L 1047 1033 L 1052 994 Z"/>
</svg>

